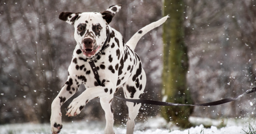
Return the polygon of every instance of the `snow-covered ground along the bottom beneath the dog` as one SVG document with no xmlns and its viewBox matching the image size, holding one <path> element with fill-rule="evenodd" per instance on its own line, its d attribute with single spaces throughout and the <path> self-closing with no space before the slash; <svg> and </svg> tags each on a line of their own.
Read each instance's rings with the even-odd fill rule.
<svg viewBox="0 0 256 134">
<path fill-rule="evenodd" d="M 208 118 L 190 117 L 190 122 L 199 124 L 185 130 L 180 130 L 172 123 L 166 123 L 162 117 L 149 118 L 144 123 L 136 123 L 134 134 L 245 134 L 248 131 L 249 123 L 256 130 L 254 119 L 220 119 L 212 120 Z M 205 125 L 212 125 L 204 128 Z M 200 125 L 201 124 L 201 125 Z M 225 127 L 218 129 L 216 126 L 224 124 Z M 215 125 L 215 126 L 214 126 Z M 105 123 L 96 121 L 74 121 L 73 123 L 63 123 L 60 134 L 102 134 Z M 244 129 L 244 131 L 243 131 Z M 125 126 L 115 126 L 115 134 L 125 134 Z M 7 124 L 0 125 L 0 134 L 51 134 L 49 124 Z"/>
</svg>

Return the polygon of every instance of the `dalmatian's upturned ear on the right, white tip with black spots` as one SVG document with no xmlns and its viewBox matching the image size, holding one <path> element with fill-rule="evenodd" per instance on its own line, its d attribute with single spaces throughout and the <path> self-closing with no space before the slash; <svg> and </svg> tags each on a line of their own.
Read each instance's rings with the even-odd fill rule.
<svg viewBox="0 0 256 134">
<path fill-rule="evenodd" d="M 107 11 L 101 12 L 103 19 L 109 24 L 112 21 L 112 18 L 116 15 L 116 13 L 121 9 L 122 5 L 113 5 L 110 6 Z"/>
</svg>

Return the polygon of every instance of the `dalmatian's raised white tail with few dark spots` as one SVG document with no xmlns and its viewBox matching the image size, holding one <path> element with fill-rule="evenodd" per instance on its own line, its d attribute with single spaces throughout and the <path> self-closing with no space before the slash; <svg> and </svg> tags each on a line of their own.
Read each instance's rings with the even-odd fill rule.
<svg viewBox="0 0 256 134">
<path fill-rule="evenodd" d="M 134 50 L 138 41 L 140 40 L 141 37 L 143 37 L 144 34 L 146 34 L 148 31 L 160 26 L 161 24 L 163 24 L 167 18 L 169 18 L 169 15 L 163 17 L 162 19 L 150 23 L 149 25 L 143 27 L 142 29 L 140 29 L 139 31 L 137 31 L 130 40 L 128 40 L 128 42 L 126 43 L 127 46 L 129 46 L 131 48 L 131 50 Z"/>
</svg>

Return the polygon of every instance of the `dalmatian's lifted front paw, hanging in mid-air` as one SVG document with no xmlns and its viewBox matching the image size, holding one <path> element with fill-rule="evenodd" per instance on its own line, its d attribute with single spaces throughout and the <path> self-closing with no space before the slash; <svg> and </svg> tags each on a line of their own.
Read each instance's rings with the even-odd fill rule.
<svg viewBox="0 0 256 134">
<path fill-rule="evenodd" d="M 81 110 L 84 108 L 85 104 L 88 102 L 88 100 L 85 102 L 84 99 L 74 99 L 72 103 L 67 107 L 67 114 L 68 117 L 70 116 L 76 116 L 80 114 Z"/>
</svg>

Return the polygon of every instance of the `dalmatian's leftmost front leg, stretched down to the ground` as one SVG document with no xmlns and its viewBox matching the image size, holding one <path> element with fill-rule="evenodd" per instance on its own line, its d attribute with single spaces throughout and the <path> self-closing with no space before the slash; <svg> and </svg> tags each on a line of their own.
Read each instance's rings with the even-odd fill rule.
<svg viewBox="0 0 256 134">
<path fill-rule="evenodd" d="M 53 100 L 50 119 L 52 134 L 58 134 L 61 131 L 61 105 L 78 91 L 79 84 L 80 82 L 69 76 L 67 82 Z"/>
</svg>

